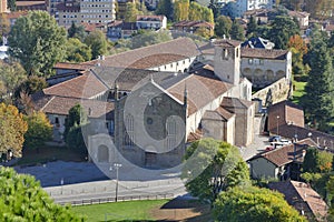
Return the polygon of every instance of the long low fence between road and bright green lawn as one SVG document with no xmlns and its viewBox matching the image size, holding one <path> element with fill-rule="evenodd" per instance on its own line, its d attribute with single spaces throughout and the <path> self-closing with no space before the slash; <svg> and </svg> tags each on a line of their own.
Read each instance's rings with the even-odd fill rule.
<svg viewBox="0 0 334 222">
<path fill-rule="evenodd" d="M 164 200 L 173 199 L 175 195 L 173 193 L 155 194 L 155 195 L 130 195 L 130 196 L 117 196 L 118 202 L 124 201 L 139 201 L 139 200 Z M 58 204 L 65 205 L 91 205 L 91 204 L 101 204 L 101 203 L 111 203 L 116 202 L 115 198 L 96 198 L 96 199 L 85 199 L 80 201 L 66 201 L 57 202 Z"/>
</svg>

